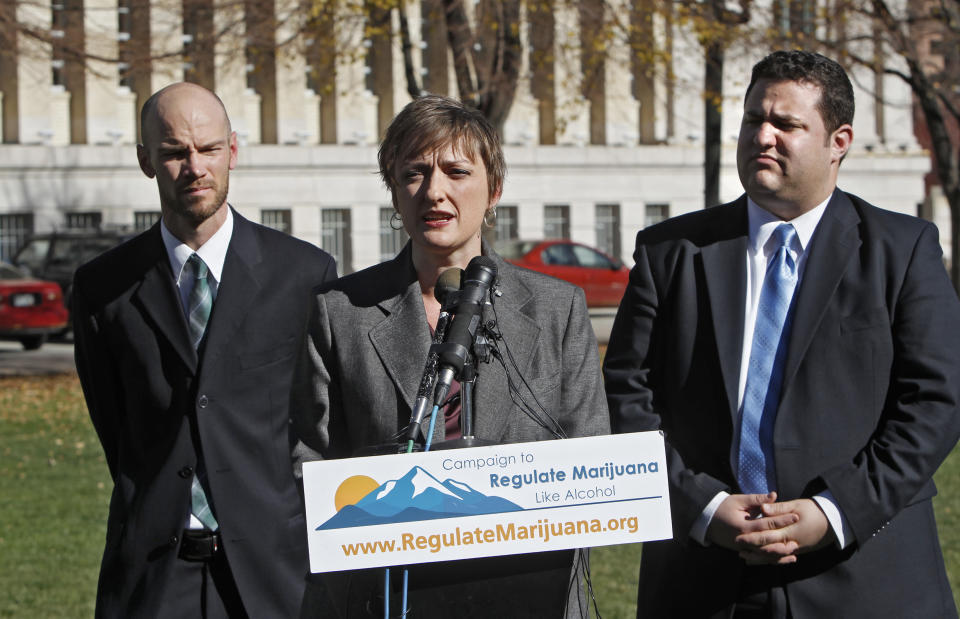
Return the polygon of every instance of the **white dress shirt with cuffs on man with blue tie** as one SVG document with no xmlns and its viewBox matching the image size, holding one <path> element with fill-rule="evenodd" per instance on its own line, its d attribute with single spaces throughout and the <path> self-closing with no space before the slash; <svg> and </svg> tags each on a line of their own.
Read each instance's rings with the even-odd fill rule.
<svg viewBox="0 0 960 619">
<path fill-rule="evenodd" d="M 828 197 L 815 208 L 807 211 L 803 215 L 790 220 L 794 229 L 797 231 L 793 239 L 792 246 L 789 248 L 790 254 L 797 264 L 797 286 L 795 290 L 800 290 L 800 284 L 803 281 L 803 274 L 807 264 L 809 254 L 805 251 L 813 240 L 814 232 L 820 223 L 820 218 L 830 202 Z M 757 320 L 757 306 L 760 304 L 760 291 L 763 288 L 763 278 L 767 272 L 767 263 L 776 254 L 778 247 L 770 242 L 773 231 L 776 230 L 783 221 L 773 213 L 762 209 L 749 197 L 747 198 L 747 220 L 749 227 L 749 242 L 747 244 L 747 297 L 744 304 L 743 319 L 743 352 L 740 357 L 740 383 L 737 390 L 737 424 L 734 427 L 734 437 L 730 448 L 730 463 L 734 475 L 737 473 L 740 453 L 740 416 L 743 414 L 743 394 L 747 385 L 747 369 L 750 366 L 750 353 L 753 348 L 753 329 Z M 700 517 L 694 522 L 690 530 L 690 537 L 701 544 L 706 544 L 707 527 L 713 519 L 723 500 L 730 496 L 726 492 L 719 492 L 710 503 L 707 504 Z M 849 524 L 840 507 L 829 490 L 825 490 L 813 497 L 820 509 L 823 510 L 827 520 L 830 522 L 830 528 L 836 535 L 837 543 L 840 548 L 845 548 L 852 541 L 852 535 Z"/>
</svg>

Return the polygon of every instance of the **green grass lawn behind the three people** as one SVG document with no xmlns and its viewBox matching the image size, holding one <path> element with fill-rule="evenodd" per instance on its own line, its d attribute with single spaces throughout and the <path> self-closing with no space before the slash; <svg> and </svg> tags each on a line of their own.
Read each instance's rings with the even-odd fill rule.
<svg viewBox="0 0 960 619">
<path fill-rule="evenodd" d="M 960 453 L 936 476 L 943 553 L 960 604 Z M 93 616 L 110 477 L 76 377 L 0 379 L 0 618 Z M 640 545 L 597 548 L 606 619 L 634 617 Z"/>
</svg>

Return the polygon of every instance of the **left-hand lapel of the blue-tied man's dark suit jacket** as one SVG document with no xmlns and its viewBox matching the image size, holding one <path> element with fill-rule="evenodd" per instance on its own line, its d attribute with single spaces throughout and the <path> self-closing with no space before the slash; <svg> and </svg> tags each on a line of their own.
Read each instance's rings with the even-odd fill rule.
<svg viewBox="0 0 960 619">
<path fill-rule="evenodd" d="M 740 384 L 740 357 L 743 356 L 743 312 L 747 298 L 747 198 L 729 206 L 731 212 L 714 221 L 720 228 L 711 231 L 715 239 L 701 249 L 703 271 L 713 332 L 717 340 L 720 371 L 731 418 L 737 418 L 737 394 Z"/>
</svg>

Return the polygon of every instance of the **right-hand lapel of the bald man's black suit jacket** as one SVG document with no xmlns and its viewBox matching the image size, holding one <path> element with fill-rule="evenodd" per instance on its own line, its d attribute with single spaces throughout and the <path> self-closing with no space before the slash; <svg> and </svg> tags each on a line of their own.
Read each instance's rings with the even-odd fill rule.
<svg viewBox="0 0 960 619">
<path fill-rule="evenodd" d="M 205 362 L 233 350 L 231 342 L 250 306 L 260 294 L 258 269 L 261 261 L 261 247 L 253 224 L 234 211 L 233 235 L 227 247 L 223 273 L 217 285 L 217 297 L 207 323 L 206 343 L 203 346 Z"/>
</svg>

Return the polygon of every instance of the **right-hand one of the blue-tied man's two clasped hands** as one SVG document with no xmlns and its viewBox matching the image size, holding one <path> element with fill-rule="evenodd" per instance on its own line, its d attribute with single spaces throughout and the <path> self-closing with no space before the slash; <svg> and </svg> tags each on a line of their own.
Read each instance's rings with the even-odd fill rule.
<svg viewBox="0 0 960 619">
<path fill-rule="evenodd" d="M 764 503 L 760 510 L 761 521 L 783 522 L 784 516 L 790 514 L 796 520 L 785 526 L 778 524 L 738 535 L 735 543 L 748 564 L 793 563 L 796 555 L 823 548 L 833 540 L 830 523 L 813 499 Z"/>
</svg>

